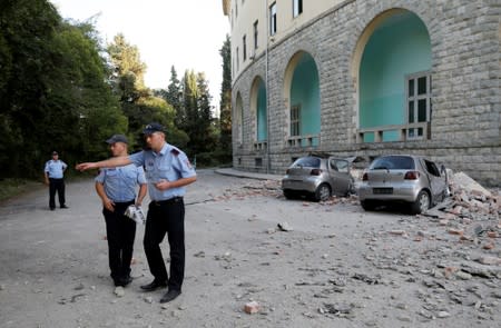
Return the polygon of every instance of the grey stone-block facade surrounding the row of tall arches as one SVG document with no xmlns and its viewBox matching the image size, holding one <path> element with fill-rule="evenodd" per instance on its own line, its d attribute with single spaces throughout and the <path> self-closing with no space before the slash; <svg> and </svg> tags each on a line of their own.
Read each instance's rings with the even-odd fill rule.
<svg viewBox="0 0 501 328">
<path fill-rule="evenodd" d="M 387 10 L 405 9 L 426 26 L 432 50 L 431 138 L 421 141 L 357 142 L 357 85 L 354 53 L 366 27 Z M 384 153 L 424 155 L 487 186 L 501 186 L 501 2 L 442 0 L 345 1 L 314 21 L 271 43 L 233 86 L 243 102 L 243 143 L 234 142 L 234 167 L 283 173 L 293 158 L 308 151 L 367 159 Z M 320 146 L 287 146 L 284 72 L 297 51 L 317 64 L 321 95 Z M 266 82 L 267 147 L 255 148 L 256 119 L 250 86 Z M 234 123 L 235 126 L 235 123 Z M 237 131 L 234 127 L 234 140 Z"/>
</svg>

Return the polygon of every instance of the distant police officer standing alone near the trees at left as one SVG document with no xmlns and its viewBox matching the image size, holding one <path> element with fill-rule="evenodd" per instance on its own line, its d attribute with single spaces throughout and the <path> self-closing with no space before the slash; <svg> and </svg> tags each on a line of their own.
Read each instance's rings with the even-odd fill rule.
<svg viewBox="0 0 501 328">
<path fill-rule="evenodd" d="M 52 159 L 46 162 L 43 173 L 46 177 L 46 185 L 49 186 L 50 210 L 56 209 L 56 191 L 58 192 L 59 206 L 61 208 L 68 208 L 66 206 L 63 177 L 67 167 L 66 162 L 59 159 L 59 153 L 57 151 L 52 151 Z"/>
</svg>

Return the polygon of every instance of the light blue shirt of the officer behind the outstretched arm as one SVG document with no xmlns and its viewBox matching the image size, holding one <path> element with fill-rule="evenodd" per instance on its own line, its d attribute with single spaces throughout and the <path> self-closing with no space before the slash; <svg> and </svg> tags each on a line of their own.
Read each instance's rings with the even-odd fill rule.
<svg viewBox="0 0 501 328">
<path fill-rule="evenodd" d="M 136 199 L 136 186 L 145 185 L 143 167 L 128 165 L 118 168 L 102 168 L 96 182 L 102 183 L 106 196 L 115 202 L 127 202 Z"/>
</svg>

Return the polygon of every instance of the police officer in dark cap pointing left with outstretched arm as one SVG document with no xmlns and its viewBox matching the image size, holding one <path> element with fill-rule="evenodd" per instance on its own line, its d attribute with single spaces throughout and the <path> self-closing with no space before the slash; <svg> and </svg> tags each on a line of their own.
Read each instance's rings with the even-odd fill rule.
<svg viewBox="0 0 501 328">
<path fill-rule="evenodd" d="M 187 156 L 165 140 L 165 128 L 147 125 L 143 130 L 149 149 L 128 157 L 115 157 L 98 162 L 85 162 L 78 170 L 118 167 L 128 163 L 144 166 L 151 202 L 145 228 L 144 246 L 154 280 L 141 289 L 153 291 L 168 287 L 160 302 L 171 301 L 181 294 L 185 272 L 185 186 L 196 181 L 195 169 Z M 170 247 L 170 275 L 161 256 L 160 242 L 167 233 Z"/>
</svg>

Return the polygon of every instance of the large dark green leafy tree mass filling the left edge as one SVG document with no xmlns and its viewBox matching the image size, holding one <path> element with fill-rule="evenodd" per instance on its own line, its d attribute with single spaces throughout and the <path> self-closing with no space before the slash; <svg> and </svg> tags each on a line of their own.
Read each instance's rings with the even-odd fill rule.
<svg viewBox="0 0 501 328">
<path fill-rule="evenodd" d="M 47 0 L 0 2 L 0 177 L 40 176 L 52 149 L 68 162 L 98 156 L 127 129 L 100 50 L 90 23 L 63 21 Z"/>
</svg>

